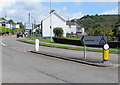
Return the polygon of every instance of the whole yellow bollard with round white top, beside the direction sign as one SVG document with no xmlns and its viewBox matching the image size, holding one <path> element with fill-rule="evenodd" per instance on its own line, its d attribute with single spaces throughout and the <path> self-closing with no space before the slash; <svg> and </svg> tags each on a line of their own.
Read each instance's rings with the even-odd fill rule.
<svg viewBox="0 0 120 85">
<path fill-rule="evenodd" d="M 109 45 L 105 44 L 103 47 L 103 63 L 109 62 Z"/>
</svg>

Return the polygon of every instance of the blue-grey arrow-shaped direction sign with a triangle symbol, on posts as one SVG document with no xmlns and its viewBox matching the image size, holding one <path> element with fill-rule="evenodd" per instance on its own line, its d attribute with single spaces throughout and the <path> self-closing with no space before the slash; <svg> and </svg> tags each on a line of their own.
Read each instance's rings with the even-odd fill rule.
<svg viewBox="0 0 120 85">
<path fill-rule="evenodd" d="M 107 43 L 107 36 L 83 36 L 81 41 L 84 45 L 104 45 Z"/>
</svg>

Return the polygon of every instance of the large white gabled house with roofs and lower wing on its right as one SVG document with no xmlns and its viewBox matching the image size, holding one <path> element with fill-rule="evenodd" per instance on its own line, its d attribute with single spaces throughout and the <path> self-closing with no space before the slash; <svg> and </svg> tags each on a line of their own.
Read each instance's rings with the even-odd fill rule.
<svg viewBox="0 0 120 85">
<path fill-rule="evenodd" d="M 50 30 L 50 16 L 52 23 L 52 31 Z M 53 29 L 56 27 L 63 28 L 64 34 L 66 37 L 67 33 L 81 33 L 84 34 L 84 28 L 81 27 L 76 22 L 66 21 L 63 17 L 59 16 L 56 12 L 52 12 L 51 15 L 47 16 L 41 21 L 41 32 L 43 37 L 52 37 L 54 36 Z M 52 32 L 52 33 L 51 33 Z"/>
</svg>

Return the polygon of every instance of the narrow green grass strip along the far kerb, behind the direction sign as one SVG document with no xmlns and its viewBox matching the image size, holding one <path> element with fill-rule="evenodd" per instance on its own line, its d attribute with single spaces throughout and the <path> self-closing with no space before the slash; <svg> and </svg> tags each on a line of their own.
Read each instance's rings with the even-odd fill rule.
<svg viewBox="0 0 120 85">
<path fill-rule="evenodd" d="M 29 44 L 35 44 L 35 41 L 31 41 L 31 40 L 17 40 L 17 41 L 24 42 L 24 43 L 29 43 Z M 40 45 L 48 46 L 48 47 L 64 48 L 64 49 L 84 50 L 83 47 L 81 47 L 81 48 L 80 47 L 70 47 L 70 46 L 61 46 L 61 45 L 53 45 L 53 44 L 45 44 L 45 43 L 40 43 Z M 87 47 L 86 50 L 87 51 L 97 51 L 97 52 L 102 52 L 103 51 L 102 48 L 95 48 L 95 47 Z M 120 50 L 110 48 L 110 52 L 111 53 L 120 53 Z"/>
</svg>

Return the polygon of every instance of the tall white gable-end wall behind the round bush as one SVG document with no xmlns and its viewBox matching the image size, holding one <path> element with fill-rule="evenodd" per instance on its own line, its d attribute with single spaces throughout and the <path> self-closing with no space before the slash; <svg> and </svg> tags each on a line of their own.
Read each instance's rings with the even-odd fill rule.
<svg viewBox="0 0 120 85">
<path fill-rule="evenodd" d="M 52 14 L 52 37 L 54 36 L 53 29 L 55 27 L 63 28 L 64 34 L 66 36 L 66 22 Z M 50 37 L 50 17 L 43 20 L 43 37 Z"/>
</svg>

